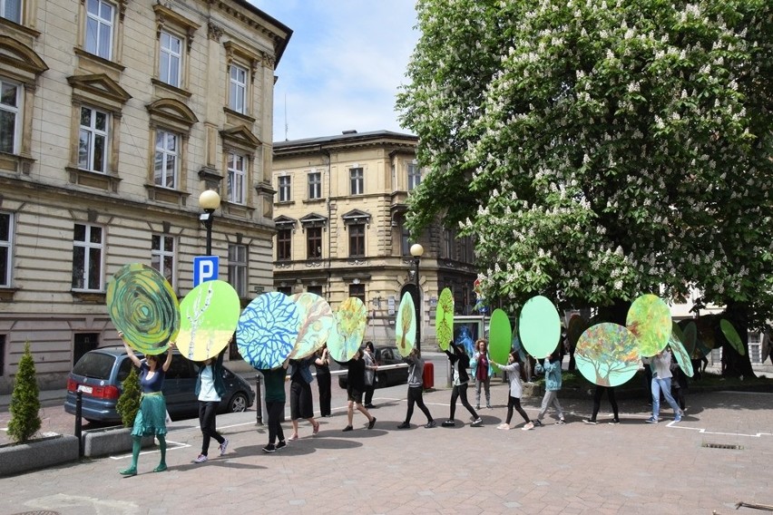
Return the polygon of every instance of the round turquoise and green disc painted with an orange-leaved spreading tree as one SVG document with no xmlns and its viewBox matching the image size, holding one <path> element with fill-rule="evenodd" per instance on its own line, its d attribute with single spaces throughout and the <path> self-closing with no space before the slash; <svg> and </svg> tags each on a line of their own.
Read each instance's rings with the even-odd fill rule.
<svg viewBox="0 0 773 515">
<path fill-rule="evenodd" d="M 588 327 L 577 341 L 574 360 L 580 373 L 593 384 L 619 386 L 639 370 L 639 344 L 620 324 L 604 322 Z"/>
</svg>

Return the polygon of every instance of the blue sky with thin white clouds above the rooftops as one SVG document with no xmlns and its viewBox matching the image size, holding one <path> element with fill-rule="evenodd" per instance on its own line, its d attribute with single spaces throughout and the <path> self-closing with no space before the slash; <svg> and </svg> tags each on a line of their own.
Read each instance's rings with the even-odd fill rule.
<svg viewBox="0 0 773 515">
<path fill-rule="evenodd" d="M 250 0 L 293 34 L 275 70 L 274 141 L 396 131 L 415 0 Z"/>
</svg>

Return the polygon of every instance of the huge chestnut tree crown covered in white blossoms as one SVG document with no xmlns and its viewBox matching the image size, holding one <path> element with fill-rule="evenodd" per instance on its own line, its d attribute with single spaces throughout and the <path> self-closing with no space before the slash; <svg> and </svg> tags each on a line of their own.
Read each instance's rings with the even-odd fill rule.
<svg viewBox="0 0 773 515">
<path fill-rule="evenodd" d="M 397 107 L 429 173 L 413 232 L 475 237 L 484 297 L 665 288 L 773 306 L 766 0 L 419 0 Z"/>
</svg>

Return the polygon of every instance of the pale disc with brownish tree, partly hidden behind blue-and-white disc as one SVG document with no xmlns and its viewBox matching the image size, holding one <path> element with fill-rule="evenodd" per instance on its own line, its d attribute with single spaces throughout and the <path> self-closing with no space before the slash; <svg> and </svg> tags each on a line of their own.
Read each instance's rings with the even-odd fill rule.
<svg viewBox="0 0 773 515">
<path fill-rule="evenodd" d="M 336 319 L 328 301 L 310 292 L 290 296 L 298 306 L 298 339 L 290 358 L 303 359 L 325 345 Z"/>
</svg>

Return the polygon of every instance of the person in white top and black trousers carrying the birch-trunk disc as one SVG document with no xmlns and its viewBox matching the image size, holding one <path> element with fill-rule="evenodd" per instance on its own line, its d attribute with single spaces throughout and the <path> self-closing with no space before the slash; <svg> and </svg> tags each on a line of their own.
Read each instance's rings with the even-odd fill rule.
<svg viewBox="0 0 773 515">
<path fill-rule="evenodd" d="M 215 417 L 220 406 L 220 399 L 226 393 L 223 382 L 223 355 L 225 350 L 215 357 L 208 359 L 199 367 L 199 375 L 196 377 L 195 394 L 199 398 L 199 426 L 201 427 L 201 454 L 193 460 L 194 463 L 203 463 L 208 460 L 210 439 L 214 438 L 220 445 L 220 456 L 225 454 L 228 448 L 228 440 L 217 430 Z"/>
</svg>

